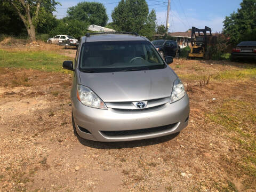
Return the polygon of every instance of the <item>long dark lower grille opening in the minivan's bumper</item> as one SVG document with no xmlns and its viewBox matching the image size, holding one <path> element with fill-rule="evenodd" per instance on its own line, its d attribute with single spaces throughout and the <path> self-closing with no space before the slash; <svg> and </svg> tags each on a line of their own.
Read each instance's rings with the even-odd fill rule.
<svg viewBox="0 0 256 192">
<path fill-rule="evenodd" d="M 138 129 L 138 130 L 125 130 L 125 131 L 100 131 L 103 135 L 108 137 L 118 137 L 118 136 L 130 136 L 130 135 L 143 135 L 143 134 L 150 134 L 150 133 L 158 133 L 163 132 L 166 130 L 171 130 L 175 127 L 177 123 L 173 123 L 170 125 L 147 128 L 147 129 Z"/>
</svg>

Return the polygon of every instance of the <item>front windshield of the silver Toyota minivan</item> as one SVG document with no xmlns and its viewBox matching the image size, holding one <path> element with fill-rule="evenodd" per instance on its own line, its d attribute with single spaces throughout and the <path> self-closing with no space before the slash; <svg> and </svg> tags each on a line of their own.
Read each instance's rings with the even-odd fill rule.
<svg viewBox="0 0 256 192">
<path fill-rule="evenodd" d="M 87 73 L 165 67 L 155 47 L 147 41 L 87 42 L 81 47 L 79 70 Z"/>
</svg>

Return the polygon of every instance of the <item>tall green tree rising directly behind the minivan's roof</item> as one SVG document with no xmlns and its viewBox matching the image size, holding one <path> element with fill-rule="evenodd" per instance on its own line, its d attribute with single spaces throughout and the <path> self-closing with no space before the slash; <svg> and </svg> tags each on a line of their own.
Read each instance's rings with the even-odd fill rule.
<svg viewBox="0 0 256 192">
<path fill-rule="evenodd" d="M 139 33 L 148 19 L 145 0 L 121 0 L 111 14 L 117 30 Z"/>
</svg>

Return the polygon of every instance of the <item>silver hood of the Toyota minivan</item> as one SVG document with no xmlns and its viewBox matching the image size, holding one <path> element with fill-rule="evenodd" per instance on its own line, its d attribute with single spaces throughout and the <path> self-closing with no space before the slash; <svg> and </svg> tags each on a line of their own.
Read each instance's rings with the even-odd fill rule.
<svg viewBox="0 0 256 192">
<path fill-rule="evenodd" d="M 115 73 L 79 72 L 81 84 L 105 102 L 145 101 L 170 97 L 177 75 L 164 69 Z"/>
</svg>

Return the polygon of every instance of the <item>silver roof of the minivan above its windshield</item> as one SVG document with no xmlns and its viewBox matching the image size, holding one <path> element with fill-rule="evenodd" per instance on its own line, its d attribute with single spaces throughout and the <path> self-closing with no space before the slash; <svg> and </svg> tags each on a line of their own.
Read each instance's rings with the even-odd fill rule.
<svg viewBox="0 0 256 192">
<path fill-rule="evenodd" d="M 98 42 L 98 41 L 149 41 L 147 38 L 139 35 L 127 34 L 90 34 L 89 37 L 81 37 L 81 42 Z"/>
</svg>

